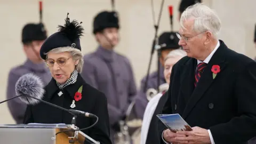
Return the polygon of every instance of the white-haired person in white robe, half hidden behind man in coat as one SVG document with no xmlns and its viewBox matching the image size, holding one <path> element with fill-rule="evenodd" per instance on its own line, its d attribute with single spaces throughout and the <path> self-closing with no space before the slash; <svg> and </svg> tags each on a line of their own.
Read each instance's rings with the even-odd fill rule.
<svg viewBox="0 0 256 144">
<path fill-rule="evenodd" d="M 172 71 L 172 66 L 179 61 L 181 58 L 186 56 L 186 52 L 180 49 L 171 51 L 164 61 L 164 78 L 167 84 L 170 84 L 170 76 Z M 163 96 L 162 96 L 163 95 Z M 156 115 L 161 114 L 165 100 L 166 92 L 158 93 L 152 98 L 146 107 L 142 127 L 141 127 L 141 144 L 157 144 L 159 143 L 159 138 L 157 134 L 157 122 L 158 118 Z"/>
</svg>

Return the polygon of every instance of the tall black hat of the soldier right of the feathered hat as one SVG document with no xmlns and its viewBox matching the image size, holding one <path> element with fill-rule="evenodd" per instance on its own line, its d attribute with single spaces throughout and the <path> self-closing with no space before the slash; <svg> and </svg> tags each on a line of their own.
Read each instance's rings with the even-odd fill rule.
<svg viewBox="0 0 256 144">
<path fill-rule="evenodd" d="M 115 11 L 102 11 L 93 19 L 93 34 L 102 31 L 105 28 L 119 29 L 118 14 Z"/>
</svg>

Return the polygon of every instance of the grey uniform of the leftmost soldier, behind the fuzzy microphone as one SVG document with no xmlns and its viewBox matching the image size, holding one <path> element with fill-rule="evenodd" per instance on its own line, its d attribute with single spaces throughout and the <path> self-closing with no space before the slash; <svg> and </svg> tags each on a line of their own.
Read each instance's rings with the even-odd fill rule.
<svg viewBox="0 0 256 144">
<path fill-rule="evenodd" d="M 6 97 L 10 99 L 15 97 L 15 83 L 18 81 L 19 77 L 22 75 L 34 73 L 42 79 L 42 82 L 46 85 L 51 81 L 51 73 L 49 69 L 46 68 L 44 62 L 40 64 L 35 64 L 29 59 L 26 60 L 23 65 L 14 67 L 10 70 L 8 81 L 7 81 L 7 90 Z M 10 113 L 17 124 L 22 124 L 23 116 L 27 105 L 20 101 L 19 98 L 15 98 L 7 102 Z"/>
</svg>

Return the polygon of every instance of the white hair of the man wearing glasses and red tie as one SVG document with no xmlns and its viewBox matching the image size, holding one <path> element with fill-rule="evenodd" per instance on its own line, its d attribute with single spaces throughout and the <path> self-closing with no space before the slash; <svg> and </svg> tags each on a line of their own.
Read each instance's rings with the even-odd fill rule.
<svg viewBox="0 0 256 144">
<path fill-rule="evenodd" d="M 194 19 L 194 30 L 198 33 L 203 31 L 211 31 L 214 38 L 217 38 L 219 34 L 221 21 L 217 13 L 210 9 L 210 7 L 202 4 L 196 3 L 187 7 L 187 9 L 181 14 L 180 25 L 182 29 L 185 29 L 183 22 L 188 19 Z"/>
</svg>

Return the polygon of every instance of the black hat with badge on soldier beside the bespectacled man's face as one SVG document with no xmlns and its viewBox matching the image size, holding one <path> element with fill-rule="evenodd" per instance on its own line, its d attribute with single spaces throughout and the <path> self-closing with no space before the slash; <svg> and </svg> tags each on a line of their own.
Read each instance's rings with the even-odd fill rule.
<svg viewBox="0 0 256 144">
<path fill-rule="evenodd" d="M 158 45 L 160 45 L 159 50 L 166 49 L 179 49 L 179 38 L 174 32 L 164 32 L 158 38 Z"/>
</svg>

